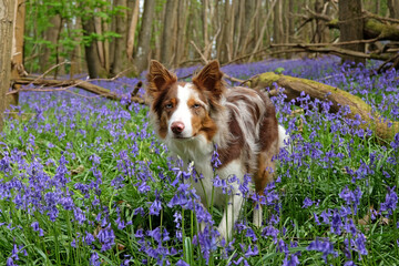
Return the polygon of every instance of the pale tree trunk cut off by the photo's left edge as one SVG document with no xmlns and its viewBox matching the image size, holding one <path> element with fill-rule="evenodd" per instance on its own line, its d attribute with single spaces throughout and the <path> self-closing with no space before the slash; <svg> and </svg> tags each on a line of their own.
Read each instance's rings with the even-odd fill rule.
<svg viewBox="0 0 399 266">
<path fill-rule="evenodd" d="M 0 132 L 3 127 L 6 93 L 10 89 L 14 0 L 0 0 Z"/>
</svg>

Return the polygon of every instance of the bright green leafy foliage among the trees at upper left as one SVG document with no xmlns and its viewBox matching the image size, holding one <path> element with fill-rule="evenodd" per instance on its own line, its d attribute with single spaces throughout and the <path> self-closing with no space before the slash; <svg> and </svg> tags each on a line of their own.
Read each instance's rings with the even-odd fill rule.
<svg viewBox="0 0 399 266">
<path fill-rule="evenodd" d="M 126 7 L 112 7 L 111 1 L 102 0 L 29 0 L 25 3 L 25 35 L 24 35 L 24 64 L 29 72 L 43 72 L 55 64 L 57 58 L 71 61 L 72 51 L 78 45 L 88 45 L 92 41 L 112 41 L 120 38 L 114 31 L 104 31 L 102 34 L 92 33 L 83 35 L 81 21 L 91 20 L 93 18 L 101 19 L 103 23 L 110 23 L 113 16 Z M 44 33 L 53 27 L 52 18 L 58 16 L 61 19 L 61 32 L 57 38 L 57 43 L 48 40 Z M 40 58 L 44 50 L 51 52 L 49 62 L 40 65 Z M 33 55 L 33 57 L 32 57 Z"/>
</svg>

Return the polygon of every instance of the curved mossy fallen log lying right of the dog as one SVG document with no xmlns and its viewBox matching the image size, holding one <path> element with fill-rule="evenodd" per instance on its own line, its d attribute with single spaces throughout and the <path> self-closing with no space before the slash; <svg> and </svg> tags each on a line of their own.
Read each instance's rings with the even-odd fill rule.
<svg viewBox="0 0 399 266">
<path fill-rule="evenodd" d="M 272 88 L 273 83 L 285 89 L 284 93 L 287 95 L 287 101 L 296 99 L 301 92 L 305 92 L 311 99 L 331 101 L 332 106 L 330 112 L 338 112 L 340 106 L 349 106 L 350 113 L 346 116 L 355 120 L 355 115 L 360 115 L 361 120 L 366 122 L 362 126 L 369 126 L 382 141 L 392 140 L 395 134 L 399 132 L 399 122 L 385 120 L 378 112 L 372 111 L 371 106 L 360 98 L 335 86 L 311 80 L 276 74 L 274 72 L 255 75 L 246 82 L 247 85 L 254 89 Z M 270 91 L 272 95 L 276 93 L 276 90 Z M 390 124 L 391 126 L 389 126 Z"/>
</svg>

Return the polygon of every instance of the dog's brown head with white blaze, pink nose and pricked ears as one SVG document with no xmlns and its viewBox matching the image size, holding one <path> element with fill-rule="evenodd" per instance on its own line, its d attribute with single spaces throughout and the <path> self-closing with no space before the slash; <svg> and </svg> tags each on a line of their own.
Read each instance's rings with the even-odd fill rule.
<svg viewBox="0 0 399 266">
<path fill-rule="evenodd" d="M 176 141 L 196 136 L 211 141 L 217 132 L 212 113 L 221 109 L 225 92 L 222 76 L 218 62 L 212 61 L 192 83 L 178 82 L 160 62 L 151 61 L 146 93 L 157 134 Z"/>
</svg>

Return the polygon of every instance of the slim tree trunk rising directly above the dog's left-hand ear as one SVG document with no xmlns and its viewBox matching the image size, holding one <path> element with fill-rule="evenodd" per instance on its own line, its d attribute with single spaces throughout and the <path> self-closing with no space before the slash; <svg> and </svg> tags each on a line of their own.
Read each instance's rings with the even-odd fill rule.
<svg viewBox="0 0 399 266">
<path fill-rule="evenodd" d="M 161 49 L 161 62 L 166 66 L 171 66 L 171 59 L 172 59 L 172 37 L 173 37 L 173 23 L 176 19 L 176 0 L 168 0 L 166 1 L 166 10 L 162 30 L 162 49 Z"/>
</svg>

